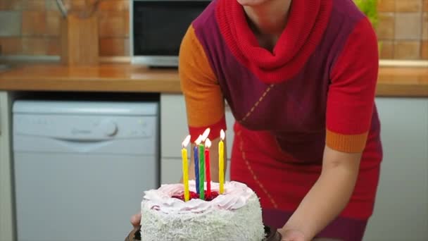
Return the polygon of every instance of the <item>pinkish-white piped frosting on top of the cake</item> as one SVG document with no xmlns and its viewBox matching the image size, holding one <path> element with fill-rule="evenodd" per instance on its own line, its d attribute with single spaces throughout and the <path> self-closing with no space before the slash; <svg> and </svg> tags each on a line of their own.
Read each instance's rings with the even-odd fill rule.
<svg viewBox="0 0 428 241">
<path fill-rule="evenodd" d="M 206 183 L 205 183 L 206 186 Z M 218 192 L 219 184 L 211 182 L 211 190 Z M 196 192 L 194 180 L 189 180 L 189 190 Z M 181 199 L 171 198 L 172 196 L 180 196 L 184 193 L 183 184 L 167 184 L 162 185 L 158 190 L 149 190 L 144 192 L 144 208 L 156 209 L 165 214 L 172 213 L 200 213 L 211 209 L 234 210 L 244 206 L 248 199 L 253 194 L 253 191 L 244 183 L 227 182 L 225 183 L 225 192 L 218 195 L 210 202 L 202 199 L 191 199 L 184 202 Z"/>
</svg>

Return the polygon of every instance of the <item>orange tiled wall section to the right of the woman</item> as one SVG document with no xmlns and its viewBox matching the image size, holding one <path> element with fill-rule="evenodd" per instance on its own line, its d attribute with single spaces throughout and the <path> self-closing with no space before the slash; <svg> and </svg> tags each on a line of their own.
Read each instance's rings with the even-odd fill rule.
<svg viewBox="0 0 428 241">
<path fill-rule="evenodd" d="M 378 0 L 381 58 L 428 59 L 428 0 Z"/>
</svg>

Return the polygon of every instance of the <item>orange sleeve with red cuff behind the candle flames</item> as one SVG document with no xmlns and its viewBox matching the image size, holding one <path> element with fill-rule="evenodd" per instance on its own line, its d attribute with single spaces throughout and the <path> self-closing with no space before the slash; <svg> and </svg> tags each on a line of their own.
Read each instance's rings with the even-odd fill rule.
<svg viewBox="0 0 428 241">
<path fill-rule="evenodd" d="M 225 101 L 220 85 L 193 26 L 184 35 L 179 57 L 180 85 L 186 101 L 191 141 L 210 128 L 211 140 L 226 129 Z"/>
</svg>

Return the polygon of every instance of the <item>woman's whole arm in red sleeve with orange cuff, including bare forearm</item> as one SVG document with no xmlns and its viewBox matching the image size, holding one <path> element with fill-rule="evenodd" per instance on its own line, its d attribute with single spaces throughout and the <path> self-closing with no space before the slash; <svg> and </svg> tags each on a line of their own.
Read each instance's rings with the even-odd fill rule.
<svg viewBox="0 0 428 241">
<path fill-rule="evenodd" d="M 312 239 L 348 204 L 371 128 L 377 54 L 372 25 L 362 18 L 329 73 L 322 171 L 282 230 L 286 237 L 287 233 L 298 233 L 303 238 L 289 240 Z"/>
</svg>

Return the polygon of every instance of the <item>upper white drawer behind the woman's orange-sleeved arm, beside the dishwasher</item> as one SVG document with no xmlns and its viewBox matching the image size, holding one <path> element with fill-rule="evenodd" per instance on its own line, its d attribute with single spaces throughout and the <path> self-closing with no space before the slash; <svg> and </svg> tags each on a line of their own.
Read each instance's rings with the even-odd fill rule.
<svg viewBox="0 0 428 241">
<path fill-rule="evenodd" d="M 233 142 L 234 117 L 226 108 L 227 158 L 230 159 Z M 182 94 L 160 95 L 160 156 L 180 158 L 181 143 L 189 135 L 187 128 L 186 106 Z M 189 152 L 190 153 L 190 152 Z"/>
</svg>

